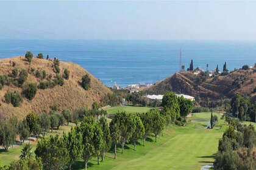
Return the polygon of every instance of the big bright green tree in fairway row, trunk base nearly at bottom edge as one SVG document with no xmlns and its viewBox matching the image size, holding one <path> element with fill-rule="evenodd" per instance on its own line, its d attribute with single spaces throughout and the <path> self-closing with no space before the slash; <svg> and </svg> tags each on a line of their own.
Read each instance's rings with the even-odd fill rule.
<svg viewBox="0 0 256 170">
<path fill-rule="evenodd" d="M 86 170 L 88 160 L 94 155 L 98 155 L 98 152 L 103 148 L 103 134 L 93 117 L 84 117 L 80 126 L 77 126 L 77 130 L 82 134 L 82 144 L 84 145 L 82 157 L 84 158 Z"/>
</svg>

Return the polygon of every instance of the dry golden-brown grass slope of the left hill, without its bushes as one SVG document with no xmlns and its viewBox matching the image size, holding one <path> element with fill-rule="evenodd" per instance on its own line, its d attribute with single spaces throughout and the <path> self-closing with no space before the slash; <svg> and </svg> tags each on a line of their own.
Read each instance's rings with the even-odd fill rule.
<svg viewBox="0 0 256 170">
<path fill-rule="evenodd" d="M 10 62 L 11 61 L 11 62 Z M 15 66 L 10 66 L 15 63 Z M 45 70 L 46 79 L 49 80 L 49 75 L 52 79 L 55 77 L 54 68 L 52 67 L 53 61 L 33 58 L 31 64 L 26 60 L 24 56 L 6 58 L 0 60 L 0 75 L 9 75 L 12 77 L 12 69 L 17 68 L 18 70 L 25 69 L 28 73 L 26 83 L 37 83 L 39 84 L 40 78 L 35 77 L 35 71 L 40 70 L 41 72 Z M 4 85 L 0 90 L 0 116 L 8 116 L 14 114 L 18 117 L 23 117 L 26 112 L 34 111 L 36 114 L 40 114 L 44 111 L 49 111 L 50 107 L 55 103 L 59 104 L 60 110 L 70 109 L 74 110 L 79 107 L 91 107 L 93 101 L 100 102 L 101 98 L 105 94 L 110 92 L 108 87 L 104 86 L 98 79 L 94 78 L 93 75 L 87 72 L 77 64 L 67 63 L 60 61 L 59 64 L 60 75 L 62 75 L 64 69 L 68 69 L 70 72 L 69 79 L 65 81 L 63 86 L 57 85 L 53 88 L 48 87 L 47 89 L 37 89 L 37 94 L 32 100 L 28 100 L 21 95 L 22 102 L 20 106 L 13 107 L 12 104 L 7 104 L 4 101 L 4 95 L 7 91 L 14 92 L 17 90 L 22 94 L 23 86 L 17 87 L 13 84 Z M 34 71 L 32 71 L 34 69 Z M 81 78 L 83 75 L 87 74 L 91 78 L 90 89 L 85 90 L 80 85 Z"/>
</svg>

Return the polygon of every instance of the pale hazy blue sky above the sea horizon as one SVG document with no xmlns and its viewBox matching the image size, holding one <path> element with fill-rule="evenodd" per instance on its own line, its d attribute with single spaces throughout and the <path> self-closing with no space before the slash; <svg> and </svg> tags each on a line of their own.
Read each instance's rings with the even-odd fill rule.
<svg viewBox="0 0 256 170">
<path fill-rule="evenodd" d="M 256 1 L 0 1 L 0 39 L 256 40 Z"/>
</svg>

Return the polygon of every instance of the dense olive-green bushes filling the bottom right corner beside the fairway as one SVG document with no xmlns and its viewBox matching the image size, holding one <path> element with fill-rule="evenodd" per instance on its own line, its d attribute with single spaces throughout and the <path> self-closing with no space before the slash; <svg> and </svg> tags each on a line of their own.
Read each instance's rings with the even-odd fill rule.
<svg viewBox="0 0 256 170">
<path fill-rule="evenodd" d="M 255 136 L 256 132 L 252 125 L 229 125 L 219 140 L 214 169 L 255 169 Z"/>
</svg>

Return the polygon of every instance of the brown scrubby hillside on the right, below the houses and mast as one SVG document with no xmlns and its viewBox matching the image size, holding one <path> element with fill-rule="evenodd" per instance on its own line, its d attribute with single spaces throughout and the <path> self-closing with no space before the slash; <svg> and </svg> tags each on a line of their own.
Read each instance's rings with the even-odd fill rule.
<svg viewBox="0 0 256 170">
<path fill-rule="evenodd" d="M 220 98 L 231 98 L 234 94 L 250 95 L 255 98 L 256 72 L 254 69 L 236 70 L 224 76 L 215 76 L 205 79 L 201 74 L 193 72 L 174 73 L 171 77 L 155 83 L 153 86 L 141 90 L 154 94 L 163 94 L 169 90 L 218 100 Z"/>
</svg>

